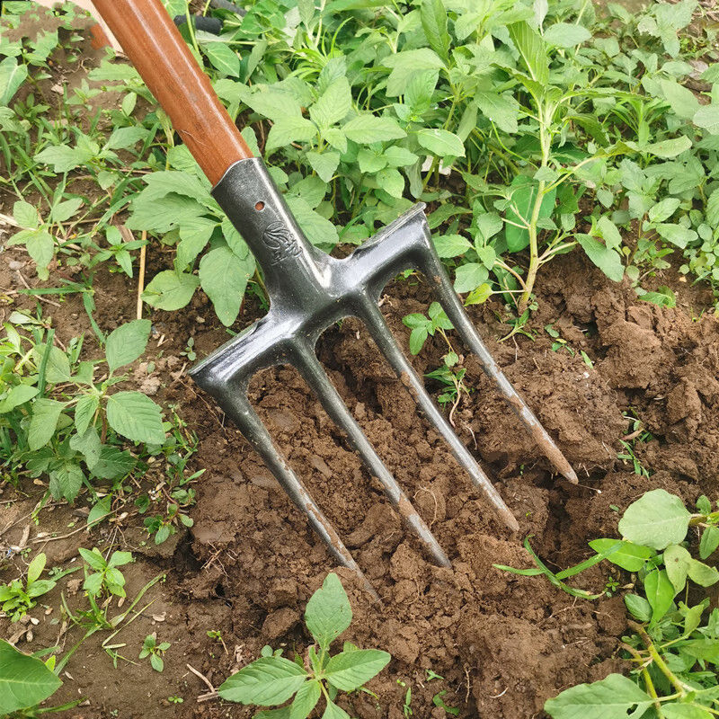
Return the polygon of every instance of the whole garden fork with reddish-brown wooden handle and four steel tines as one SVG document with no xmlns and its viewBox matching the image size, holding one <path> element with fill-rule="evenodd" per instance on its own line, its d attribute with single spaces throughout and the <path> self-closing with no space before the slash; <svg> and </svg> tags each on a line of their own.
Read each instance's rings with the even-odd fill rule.
<svg viewBox="0 0 719 719">
<path fill-rule="evenodd" d="M 253 157 L 244 143 L 160 0 L 94 0 L 94 4 L 213 183 L 212 195 L 262 268 L 271 301 L 267 315 L 192 368 L 191 377 L 239 427 L 340 564 L 358 573 L 377 596 L 253 410 L 247 387 L 250 378 L 262 368 L 280 364 L 297 368 L 431 559 L 440 566 L 450 565 L 430 528 L 377 456 L 315 356 L 320 334 L 350 315 L 359 317 L 368 327 L 379 350 L 429 422 L 447 440 L 475 488 L 508 528 L 519 528 L 500 494 L 439 412 L 378 308 L 382 289 L 401 271 L 422 271 L 457 333 L 537 445 L 566 479 L 577 482 L 572 467 L 503 375 L 466 315 L 434 250 L 423 204 L 415 205 L 349 257 L 337 260 L 317 250 L 292 217 L 262 160 Z"/>
</svg>

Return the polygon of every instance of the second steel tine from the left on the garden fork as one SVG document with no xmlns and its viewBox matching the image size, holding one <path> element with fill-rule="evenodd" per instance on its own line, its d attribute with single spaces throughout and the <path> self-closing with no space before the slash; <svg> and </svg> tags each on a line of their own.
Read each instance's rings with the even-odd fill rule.
<svg viewBox="0 0 719 719">
<path fill-rule="evenodd" d="M 324 368 L 315 357 L 315 352 L 310 348 L 297 351 L 293 356 L 293 364 L 304 377 L 310 389 L 319 397 L 324 411 L 330 416 L 330 419 L 347 434 L 352 447 L 362 457 L 369 471 L 382 484 L 392 506 L 399 512 L 400 517 L 404 519 L 405 525 L 422 542 L 422 546 L 424 546 L 432 560 L 441 567 L 451 566 L 448 556 L 439 546 L 439 542 L 431 533 L 430 528 L 420 517 L 413 503 L 410 502 L 402 488 L 397 484 L 395 477 L 378 457 L 375 448 L 369 443 L 362 428 L 352 417 L 339 392 L 337 392 L 332 381 L 327 377 Z"/>
</svg>

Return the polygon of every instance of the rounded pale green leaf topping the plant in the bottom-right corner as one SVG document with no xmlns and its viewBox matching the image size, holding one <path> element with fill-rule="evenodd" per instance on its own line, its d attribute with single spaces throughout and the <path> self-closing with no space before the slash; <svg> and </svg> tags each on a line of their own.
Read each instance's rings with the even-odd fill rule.
<svg viewBox="0 0 719 719">
<path fill-rule="evenodd" d="M 622 537 L 637 545 L 661 550 L 687 536 L 689 514 L 679 497 L 663 489 L 644 493 L 619 520 Z"/>
</svg>

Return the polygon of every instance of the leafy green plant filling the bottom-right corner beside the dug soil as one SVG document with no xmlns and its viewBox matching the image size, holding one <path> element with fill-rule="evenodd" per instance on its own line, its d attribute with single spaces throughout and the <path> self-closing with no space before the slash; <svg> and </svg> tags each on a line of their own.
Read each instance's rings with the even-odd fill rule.
<svg viewBox="0 0 719 719">
<path fill-rule="evenodd" d="M 619 644 L 635 668 L 628 678 L 610 674 L 548 700 L 545 711 L 554 719 L 630 713 L 658 719 L 708 719 L 719 713 L 719 609 L 707 616 L 709 599 L 692 604 L 696 592 L 689 591 L 689 581 L 709 587 L 719 581 L 719 572 L 694 558 L 686 541 L 688 530 L 697 529 L 699 556 L 712 555 L 719 546 L 719 511 L 712 511 L 706 497 L 699 498 L 697 510 L 691 513 L 679 497 L 652 490 L 630 504 L 619 520 L 622 540 L 590 542 L 597 552 L 593 559 L 607 559 L 635 577 L 630 586 L 636 591 L 625 595 L 633 634 Z M 590 564 L 596 562 L 590 560 Z"/>
</svg>

